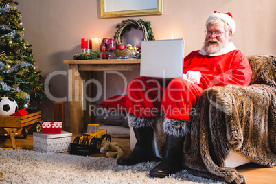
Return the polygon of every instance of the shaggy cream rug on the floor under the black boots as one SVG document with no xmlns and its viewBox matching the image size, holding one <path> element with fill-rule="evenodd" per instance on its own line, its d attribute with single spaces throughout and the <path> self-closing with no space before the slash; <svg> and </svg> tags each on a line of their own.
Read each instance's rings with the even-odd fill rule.
<svg viewBox="0 0 276 184">
<path fill-rule="evenodd" d="M 0 148 L 0 183 L 220 183 L 185 170 L 163 179 L 150 178 L 157 162 L 117 165 L 116 159 L 82 157 Z"/>
</svg>

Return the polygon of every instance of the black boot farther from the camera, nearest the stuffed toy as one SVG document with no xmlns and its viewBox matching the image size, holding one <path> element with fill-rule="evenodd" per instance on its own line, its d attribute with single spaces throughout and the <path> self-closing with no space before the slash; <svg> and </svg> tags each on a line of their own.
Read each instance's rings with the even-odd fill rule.
<svg viewBox="0 0 276 184">
<path fill-rule="evenodd" d="M 135 165 L 137 163 L 153 161 L 154 153 L 152 150 L 153 130 L 146 126 L 133 128 L 137 142 L 133 152 L 125 158 L 117 159 L 119 165 Z"/>
</svg>

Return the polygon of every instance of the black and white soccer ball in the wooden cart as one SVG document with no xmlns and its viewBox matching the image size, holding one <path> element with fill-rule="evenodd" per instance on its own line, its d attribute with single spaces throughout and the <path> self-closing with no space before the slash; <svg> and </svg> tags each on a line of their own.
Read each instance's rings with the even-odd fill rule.
<svg viewBox="0 0 276 184">
<path fill-rule="evenodd" d="M 18 105 L 11 97 L 0 98 L 0 115 L 9 116 L 15 113 L 18 109 Z"/>
</svg>

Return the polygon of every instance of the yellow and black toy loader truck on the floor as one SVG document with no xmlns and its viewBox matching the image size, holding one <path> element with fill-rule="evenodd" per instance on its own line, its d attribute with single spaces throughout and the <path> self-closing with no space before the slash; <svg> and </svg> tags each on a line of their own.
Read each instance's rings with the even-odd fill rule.
<svg viewBox="0 0 276 184">
<path fill-rule="evenodd" d="M 90 155 L 100 151 L 101 143 L 104 138 L 111 141 L 111 135 L 106 130 L 100 130 L 99 124 L 88 124 L 87 133 L 81 134 L 73 140 L 70 154 Z"/>
</svg>

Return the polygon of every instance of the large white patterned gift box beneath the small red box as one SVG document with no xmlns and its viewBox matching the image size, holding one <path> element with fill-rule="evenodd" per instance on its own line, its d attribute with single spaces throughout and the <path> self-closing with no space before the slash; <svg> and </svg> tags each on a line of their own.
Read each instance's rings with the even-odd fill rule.
<svg viewBox="0 0 276 184">
<path fill-rule="evenodd" d="M 39 152 L 69 152 L 72 133 L 62 131 L 59 134 L 33 133 L 34 148 Z"/>
</svg>

